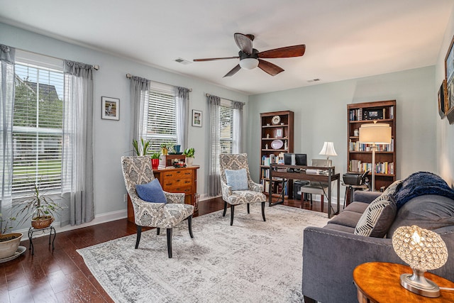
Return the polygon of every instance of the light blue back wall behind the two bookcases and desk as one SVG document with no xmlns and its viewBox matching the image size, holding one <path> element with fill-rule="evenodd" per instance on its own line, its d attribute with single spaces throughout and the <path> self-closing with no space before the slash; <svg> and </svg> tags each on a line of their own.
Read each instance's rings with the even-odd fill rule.
<svg viewBox="0 0 454 303">
<path fill-rule="evenodd" d="M 249 97 L 250 172 L 259 180 L 260 113 L 294 111 L 294 152 L 321 158 L 324 141 L 333 141 L 336 172 L 347 170 L 347 104 L 397 101 L 397 178 L 419 170 L 436 172 L 435 67 L 351 79 Z"/>
</svg>

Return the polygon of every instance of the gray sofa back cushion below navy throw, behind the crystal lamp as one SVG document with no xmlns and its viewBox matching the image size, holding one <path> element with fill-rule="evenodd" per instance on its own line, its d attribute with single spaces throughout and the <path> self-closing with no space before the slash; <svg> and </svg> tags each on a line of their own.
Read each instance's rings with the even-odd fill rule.
<svg viewBox="0 0 454 303">
<path fill-rule="evenodd" d="M 406 202 L 397 212 L 387 238 L 400 226 L 416 225 L 433 230 L 454 225 L 454 200 L 436 194 L 425 194 Z"/>
</svg>

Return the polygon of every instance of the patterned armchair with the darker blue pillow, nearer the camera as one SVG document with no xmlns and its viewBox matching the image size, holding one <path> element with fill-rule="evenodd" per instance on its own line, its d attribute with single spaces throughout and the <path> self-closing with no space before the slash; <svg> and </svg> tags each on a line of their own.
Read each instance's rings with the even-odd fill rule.
<svg viewBox="0 0 454 303">
<path fill-rule="evenodd" d="M 135 249 L 140 242 L 140 233 L 143 226 L 156 227 L 157 234 L 160 228 L 167 228 L 167 251 L 169 258 L 172 258 L 172 228 L 179 222 L 187 219 L 189 235 L 192 235 L 192 214 L 194 206 L 184 204 L 184 194 L 172 194 L 164 192 L 167 204 L 146 202 L 138 197 L 135 191 L 136 184 L 146 184 L 155 179 L 151 168 L 150 157 L 121 157 L 123 177 L 125 179 L 126 190 L 133 204 L 135 225 L 137 226 L 137 239 Z"/>
</svg>

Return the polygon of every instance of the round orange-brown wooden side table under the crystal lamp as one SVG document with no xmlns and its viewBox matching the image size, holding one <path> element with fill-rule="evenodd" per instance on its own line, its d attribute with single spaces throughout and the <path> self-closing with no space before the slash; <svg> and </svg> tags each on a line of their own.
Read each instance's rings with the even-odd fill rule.
<svg viewBox="0 0 454 303">
<path fill-rule="evenodd" d="M 358 289 L 360 303 L 394 302 L 454 302 L 454 291 L 440 290 L 440 297 L 423 297 L 400 285 L 400 275 L 411 273 L 409 266 L 397 263 L 369 262 L 353 270 L 353 282 Z M 426 272 L 425 277 L 439 287 L 454 288 L 454 282 Z"/>
</svg>

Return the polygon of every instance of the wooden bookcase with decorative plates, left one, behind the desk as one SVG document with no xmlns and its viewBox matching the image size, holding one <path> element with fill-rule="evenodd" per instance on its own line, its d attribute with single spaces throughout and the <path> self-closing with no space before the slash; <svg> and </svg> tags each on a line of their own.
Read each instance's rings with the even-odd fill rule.
<svg viewBox="0 0 454 303">
<path fill-rule="evenodd" d="M 293 153 L 293 125 L 293 111 L 272 111 L 260 114 L 260 183 L 263 184 L 265 194 L 268 194 L 270 186 L 273 189 L 273 196 L 279 197 L 282 190 L 282 182 L 270 180 L 270 159 L 274 158 L 275 162 L 281 160 L 283 164 L 284 159 L 279 158 L 279 155 Z M 289 182 L 285 195 L 290 199 L 293 198 L 292 185 L 293 183 Z"/>
</svg>

